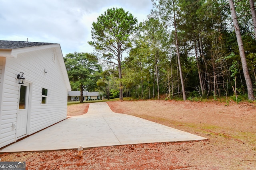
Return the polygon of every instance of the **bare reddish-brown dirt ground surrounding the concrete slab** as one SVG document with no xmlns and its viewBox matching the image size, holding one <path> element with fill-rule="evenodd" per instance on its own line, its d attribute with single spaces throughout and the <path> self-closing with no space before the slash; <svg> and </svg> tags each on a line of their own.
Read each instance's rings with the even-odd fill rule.
<svg viewBox="0 0 256 170">
<path fill-rule="evenodd" d="M 108 102 L 117 113 L 131 114 L 208 141 L 153 143 L 51 152 L 0 155 L 2 161 L 26 161 L 28 169 L 104 170 L 255 170 L 256 103 L 124 101 Z M 88 104 L 68 106 L 68 115 L 86 113 Z"/>
</svg>

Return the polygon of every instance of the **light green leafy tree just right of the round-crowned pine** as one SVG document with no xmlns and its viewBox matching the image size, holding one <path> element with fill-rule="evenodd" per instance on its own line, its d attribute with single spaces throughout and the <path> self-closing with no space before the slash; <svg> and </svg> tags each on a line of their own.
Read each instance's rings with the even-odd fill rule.
<svg viewBox="0 0 256 170">
<path fill-rule="evenodd" d="M 163 80 L 159 76 L 164 74 L 166 67 L 168 68 L 164 48 L 169 35 L 164 25 L 152 17 L 140 23 L 140 33 L 140 36 L 136 37 L 129 57 L 124 62 L 123 84 L 134 98 L 152 98 L 153 93 L 160 97 L 159 93 L 163 91 L 161 86 Z M 152 87 L 154 81 L 156 81 L 156 88 Z M 135 89 L 130 90 L 131 88 Z"/>
</svg>

